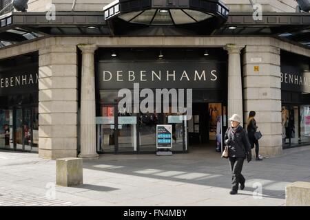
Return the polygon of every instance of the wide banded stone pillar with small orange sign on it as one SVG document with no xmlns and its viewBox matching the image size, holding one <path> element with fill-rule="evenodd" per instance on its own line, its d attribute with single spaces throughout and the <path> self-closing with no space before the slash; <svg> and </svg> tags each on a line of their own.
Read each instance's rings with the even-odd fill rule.
<svg viewBox="0 0 310 220">
<path fill-rule="evenodd" d="M 282 154 L 280 49 L 247 45 L 243 55 L 245 118 L 256 111 L 260 155 Z M 253 151 L 255 156 L 255 151 Z"/>
</svg>

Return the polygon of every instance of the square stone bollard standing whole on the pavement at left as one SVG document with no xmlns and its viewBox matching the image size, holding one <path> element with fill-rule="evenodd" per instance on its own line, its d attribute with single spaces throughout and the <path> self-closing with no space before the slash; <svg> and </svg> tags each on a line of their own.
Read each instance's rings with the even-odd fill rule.
<svg viewBox="0 0 310 220">
<path fill-rule="evenodd" d="M 59 186 L 83 184 L 83 159 L 76 157 L 56 159 L 56 184 Z"/>
</svg>

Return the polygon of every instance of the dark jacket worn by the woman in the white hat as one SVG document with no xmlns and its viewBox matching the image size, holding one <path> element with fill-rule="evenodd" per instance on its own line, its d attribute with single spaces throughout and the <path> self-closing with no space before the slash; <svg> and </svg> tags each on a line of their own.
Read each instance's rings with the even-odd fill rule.
<svg viewBox="0 0 310 220">
<path fill-rule="evenodd" d="M 228 146 L 229 157 L 245 158 L 251 155 L 251 145 L 247 138 L 247 132 L 242 126 L 238 126 L 236 131 L 229 127 L 225 133 L 225 144 Z"/>
</svg>

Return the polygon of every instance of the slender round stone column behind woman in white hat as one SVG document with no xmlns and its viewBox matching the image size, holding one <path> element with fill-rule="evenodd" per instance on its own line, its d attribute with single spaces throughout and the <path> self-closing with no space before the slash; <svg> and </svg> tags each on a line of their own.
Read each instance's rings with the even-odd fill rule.
<svg viewBox="0 0 310 220">
<path fill-rule="evenodd" d="M 242 78 L 240 51 L 243 47 L 237 45 L 226 45 L 224 47 L 228 52 L 228 103 L 227 113 L 230 118 L 233 114 L 240 115 L 242 119 Z M 240 124 L 243 124 L 243 120 Z"/>
</svg>

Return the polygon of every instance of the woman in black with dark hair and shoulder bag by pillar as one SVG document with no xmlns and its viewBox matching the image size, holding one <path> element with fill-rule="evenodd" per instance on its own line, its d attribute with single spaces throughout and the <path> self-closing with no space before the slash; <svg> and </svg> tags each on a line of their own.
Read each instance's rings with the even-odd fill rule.
<svg viewBox="0 0 310 220">
<path fill-rule="evenodd" d="M 256 140 L 254 133 L 256 133 L 258 126 L 256 126 L 256 120 L 255 120 L 255 111 L 250 111 L 249 118 L 247 119 L 247 135 L 249 135 L 249 142 L 251 144 L 251 148 L 254 148 L 255 144 L 255 154 L 256 154 L 256 160 L 262 160 L 260 159 L 260 145 L 258 144 L 258 140 Z"/>
</svg>

